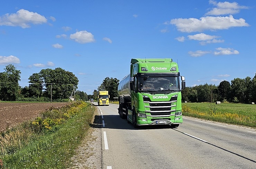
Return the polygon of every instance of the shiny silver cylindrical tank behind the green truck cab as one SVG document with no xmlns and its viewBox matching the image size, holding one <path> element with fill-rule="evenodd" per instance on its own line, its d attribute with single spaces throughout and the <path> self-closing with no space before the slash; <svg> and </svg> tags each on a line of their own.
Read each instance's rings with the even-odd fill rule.
<svg viewBox="0 0 256 169">
<path fill-rule="evenodd" d="M 131 101 L 130 74 L 119 82 L 118 95 L 120 98 Z"/>
</svg>

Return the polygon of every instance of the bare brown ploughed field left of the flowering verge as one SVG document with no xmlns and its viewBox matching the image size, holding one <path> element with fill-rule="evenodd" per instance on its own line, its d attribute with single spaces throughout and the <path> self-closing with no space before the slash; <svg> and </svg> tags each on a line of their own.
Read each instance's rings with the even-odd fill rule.
<svg viewBox="0 0 256 169">
<path fill-rule="evenodd" d="M 0 132 L 24 121 L 34 120 L 50 107 L 62 107 L 71 103 L 11 103 L 0 102 Z"/>
</svg>

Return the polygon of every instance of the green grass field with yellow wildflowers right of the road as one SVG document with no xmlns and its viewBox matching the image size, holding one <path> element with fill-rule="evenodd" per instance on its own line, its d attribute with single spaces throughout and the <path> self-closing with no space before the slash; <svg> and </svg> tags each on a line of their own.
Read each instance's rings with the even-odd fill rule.
<svg viewBox="0 0 256 169">
<path fill-rule="evenodd" d="M 182 103 L 182 114 L 194 118 L 256 128 L 256 106 L 237 103 Z"/>
</svg>

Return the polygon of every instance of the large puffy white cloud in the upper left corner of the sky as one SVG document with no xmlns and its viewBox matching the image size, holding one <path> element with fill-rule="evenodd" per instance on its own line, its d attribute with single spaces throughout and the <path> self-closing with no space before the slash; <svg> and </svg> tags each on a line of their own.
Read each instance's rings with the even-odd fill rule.
<svg viewBox="0 0 256 169">
<path fill-rule="evenodd" d="M 20 26 L 21 28 L 29 28 L 29 24 L 43 24 L 47 19 L 36 12 L 29 12 L 25 9 L 20 9 L 16 13 L 7 13 L 0 17 L 0 26 Z"/>
</svg>

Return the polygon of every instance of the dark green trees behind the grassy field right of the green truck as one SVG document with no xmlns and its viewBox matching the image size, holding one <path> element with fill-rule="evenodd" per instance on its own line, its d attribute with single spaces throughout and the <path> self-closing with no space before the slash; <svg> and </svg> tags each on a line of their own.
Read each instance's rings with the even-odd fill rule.
<svg viewBox="0 0 256 169">
<path fill-rule="evenodd" d="M 181 91 L 185 102 L 256 102 L 256 74 L 253 78 L 234 78 L 231 83 L 222 81 L 218 86 L 211 84 L 186 87 Z"/>
</svg>

